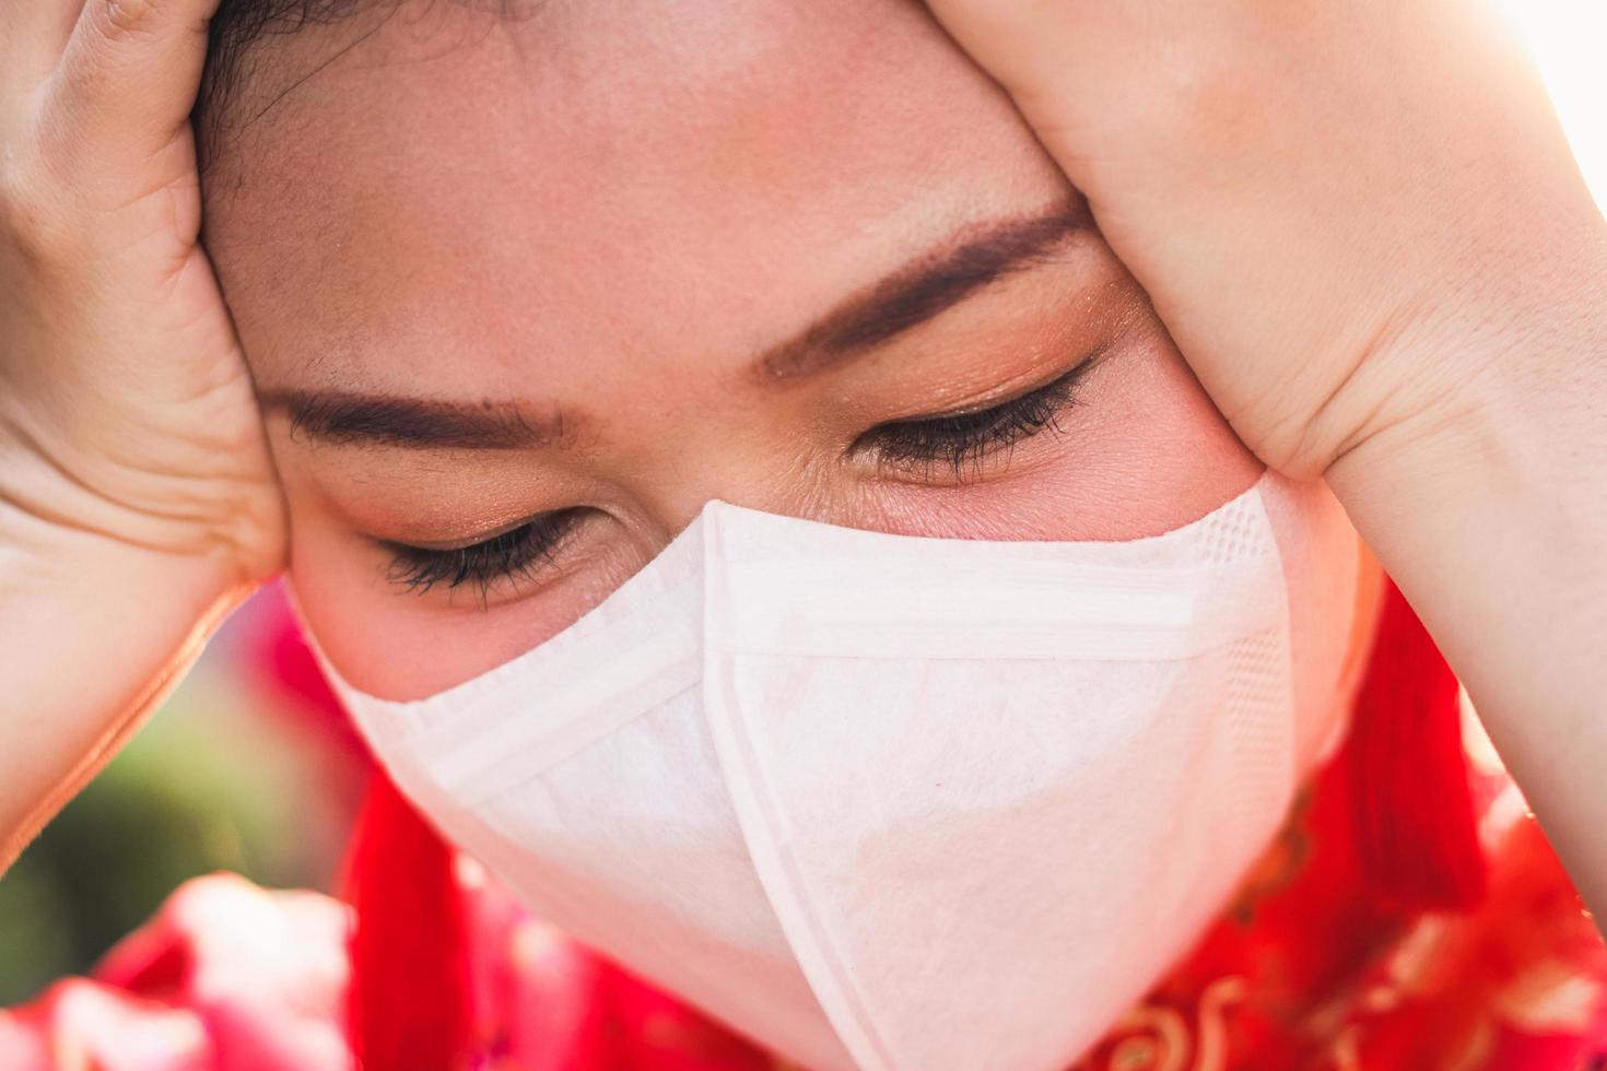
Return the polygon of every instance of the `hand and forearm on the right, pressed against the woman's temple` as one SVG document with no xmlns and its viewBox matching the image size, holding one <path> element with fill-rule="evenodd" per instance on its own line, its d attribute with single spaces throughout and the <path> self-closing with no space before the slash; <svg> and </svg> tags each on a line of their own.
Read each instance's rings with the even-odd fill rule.
<svg viewBox="0 0 1607 1071">
<path fill-rule="evenodd" d="M 1601 917 L 1607 222 L 1496 11 L 930 6 L 1241 438 L 1326 474 Z"/>
</svg>

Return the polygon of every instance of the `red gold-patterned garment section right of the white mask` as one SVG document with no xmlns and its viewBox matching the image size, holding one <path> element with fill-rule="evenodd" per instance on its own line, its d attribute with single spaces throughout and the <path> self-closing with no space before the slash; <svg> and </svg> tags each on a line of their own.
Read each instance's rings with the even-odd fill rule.
<svg viewBox="0 0 1607 1071">
<path fill-rule="evenodd" d="M 1200 946 L 1078 1071 L 1607 1066 L 1607 946 L 1493 753 L 1475 776 L 1488 896 L 1429 914 L 1369 904 L 1348 758 L 1303 795 Z"/>
</svg>

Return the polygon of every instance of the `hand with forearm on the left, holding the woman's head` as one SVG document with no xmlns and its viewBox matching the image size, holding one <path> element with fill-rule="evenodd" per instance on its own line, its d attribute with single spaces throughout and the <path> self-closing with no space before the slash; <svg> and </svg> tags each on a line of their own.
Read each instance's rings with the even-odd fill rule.
<svg viewBox="0 0 1607 1071">
<path fill-rule="evenodd" d="M 215 2 L 0 3 L 0 870 L 284 556 L 196 244 Z"/>
</svg>

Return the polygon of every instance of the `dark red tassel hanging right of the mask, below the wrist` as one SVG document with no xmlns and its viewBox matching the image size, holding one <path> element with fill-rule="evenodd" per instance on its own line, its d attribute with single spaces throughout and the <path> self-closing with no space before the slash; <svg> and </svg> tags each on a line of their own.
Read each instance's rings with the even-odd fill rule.
<svg viewBox="0 0 1607 1071">
<path fill-rule="evenodd" d="M 1462 750 L 1461 686 L 1393 581 L 1342 761 L 1368 894 L 1408 914 L 1478 906 L 1486 862 Z"/>
</svg>

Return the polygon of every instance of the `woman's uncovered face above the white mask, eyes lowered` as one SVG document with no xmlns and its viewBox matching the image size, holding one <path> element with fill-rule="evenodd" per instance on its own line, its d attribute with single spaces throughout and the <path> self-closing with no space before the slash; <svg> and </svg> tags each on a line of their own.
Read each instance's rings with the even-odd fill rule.
<svg viewBox="0 0 1607 1071">
<path fill-rule="evenodd" d="M 209 175 L 296 589 L 357 687 L 513 658 L 712 498 L 1125 540 L 1257 478 L 918 5 L 480 6 L 270 37 Z"/>
</svg>

